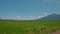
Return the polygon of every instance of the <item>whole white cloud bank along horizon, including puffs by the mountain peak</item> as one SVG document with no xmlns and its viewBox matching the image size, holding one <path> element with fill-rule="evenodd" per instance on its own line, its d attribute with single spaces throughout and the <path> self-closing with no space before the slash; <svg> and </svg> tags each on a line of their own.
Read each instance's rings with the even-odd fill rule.
<svg viewBox="0 0 60 34">
<path fill-rule="evenodd" d="M 45 16 L 48 16 L 49 13 L 45 12 L 43 13 L 44 15 L 42 16 L 16 16 L 16 17 L 8 17 L 8 16 L 5 16 L 5 17 L 0 17 L 0 19 L 7 19 L 7 20 L 35 20 L 35 19 L 40 19 L 40 18 L 43 18 Z M 60 14 L 60 13 L 57 13 L 57 14 Z"/>
</svg>

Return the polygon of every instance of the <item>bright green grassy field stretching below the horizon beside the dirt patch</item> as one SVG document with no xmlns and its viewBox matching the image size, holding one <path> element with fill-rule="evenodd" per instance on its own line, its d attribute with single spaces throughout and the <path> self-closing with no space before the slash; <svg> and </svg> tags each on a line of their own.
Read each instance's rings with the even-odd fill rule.
<svg viewBox="0 0 60 34">
<path fill-rule="evenodd" d="M 0 20 L 0 34 L 47 34 L 60 29 L 59 20 Z"/>
</svg>

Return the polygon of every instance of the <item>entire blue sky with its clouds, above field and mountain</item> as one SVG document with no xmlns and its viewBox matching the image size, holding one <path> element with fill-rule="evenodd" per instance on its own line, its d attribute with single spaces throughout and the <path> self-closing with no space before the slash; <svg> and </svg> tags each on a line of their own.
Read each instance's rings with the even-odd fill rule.
<svg viewBox="0 0 60 34">
<path fill-rule="evenodd" d="M 0 0 L 0 17 L 6 19 L 36 19 L 60 14 L 60 0 Z"/>
</svg>

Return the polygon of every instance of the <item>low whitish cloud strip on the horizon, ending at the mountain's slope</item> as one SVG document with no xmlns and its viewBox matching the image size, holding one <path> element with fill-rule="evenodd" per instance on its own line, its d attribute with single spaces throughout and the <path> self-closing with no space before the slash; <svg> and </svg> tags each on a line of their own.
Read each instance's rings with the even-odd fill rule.
<svg viewBox="0 0 60 34">
<path fill-rule="evenodd" d="M 39 19 L 42 18 L 43 16 L 16 16 L 16 17 L 1 17 L 2 19 L 7 19 L 7 20 L 35 20 L 35 19 Z"/>
</svg>

